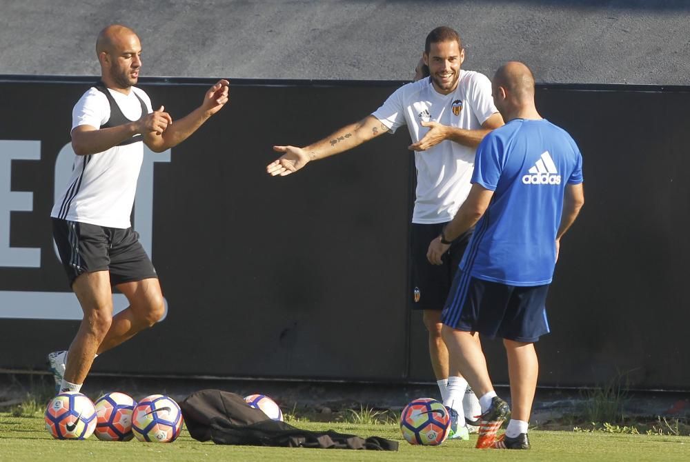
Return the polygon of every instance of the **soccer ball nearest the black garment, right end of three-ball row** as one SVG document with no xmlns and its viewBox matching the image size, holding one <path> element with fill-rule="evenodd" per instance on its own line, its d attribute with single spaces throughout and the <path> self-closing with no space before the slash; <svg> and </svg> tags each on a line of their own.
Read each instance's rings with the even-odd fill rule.
<svg viewBox="0 0 690 462">
<path fill-rule="evenodd" d="M 132 432 L 139 441 L 172 443 L 181 430 L 182 411 L 169 396 L 146 396 L 132 412 Z"/>
</svg>

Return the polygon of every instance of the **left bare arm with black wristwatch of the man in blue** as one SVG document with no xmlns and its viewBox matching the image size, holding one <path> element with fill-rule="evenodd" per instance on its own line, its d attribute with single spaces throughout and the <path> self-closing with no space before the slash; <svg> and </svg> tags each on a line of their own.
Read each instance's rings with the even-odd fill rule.
<svg viewBox="0 0 690 462">
<path fill-rule="evenodd" d="M 472 228 L 486 212 L 492 197 L 492 190 L 488 190 L 477 183 L 472 185 L 467 199 L 460 206 L 460 210 L 457 210 L 453 220 L 446 225 L 442 236 L 437 237 L 429 244 L 428 251 L 426 252 L 426 259 L 428 259 L 429 263 L 433 265 L 443 263 L 441 258 L 451 245 L 442 243 L 441 238 L 443 237 L 446 242 L 452 242 L 457 237 L 460 237 L 463 232 Z"/>
</svg>

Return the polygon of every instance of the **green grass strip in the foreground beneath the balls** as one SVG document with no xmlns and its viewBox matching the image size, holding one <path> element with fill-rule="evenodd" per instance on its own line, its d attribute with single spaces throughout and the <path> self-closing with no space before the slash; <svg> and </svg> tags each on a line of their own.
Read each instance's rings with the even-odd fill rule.
<svg viewBox="0 0 690 462">
<path fill-rule="evenodd" d="M 533 431 L 529 451 L 475 450 L 470 441 L 446 441 L 431 448 L 407 444 L 394 424 L 290 422 L 305 430 L 383 436 L 400 441 L 398 452 L 259 448 L 199 443 L 184 430 L 174 443 L 58 441 L 39 416 L 0 413 L 0 461 L 676 461 L 690 460 L 690 438 L 640 434 Z"/>
</svg>

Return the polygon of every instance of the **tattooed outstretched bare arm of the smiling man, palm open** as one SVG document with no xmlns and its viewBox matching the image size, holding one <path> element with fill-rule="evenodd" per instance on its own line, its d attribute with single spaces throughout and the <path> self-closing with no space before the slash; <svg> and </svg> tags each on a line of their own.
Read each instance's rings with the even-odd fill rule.
<svg viewBox="0 0 690 462">
<path fill-rule="evenodd" d="M 359 122 L 351 123 L 337 130 L 330 136 L 312 143 L 304 148 L 295 146 L 273 146 L 273 150 L 284 152 L 275 161 L 266 165 L 266 172 L 275 177 L 284 177 L 290 173 L 297 172 L 310 161 L 323 159 L 333 156 L 346 150 L 355 148 L 370 139 L 378 137 L 388 131 L 388 127 L 381 123 L 379 119 L 368 115 Z"/>
</svg>

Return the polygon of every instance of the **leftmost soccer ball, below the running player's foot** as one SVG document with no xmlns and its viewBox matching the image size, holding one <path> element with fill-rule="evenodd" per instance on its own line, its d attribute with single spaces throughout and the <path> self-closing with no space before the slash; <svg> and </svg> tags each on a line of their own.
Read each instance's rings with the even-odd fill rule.
<svg viewBox="0 0 690 462">
<path fill-rule="evenodd" d="M 96 428 L 93 403 L 79 392 L 62 392 L 46 408 L 46 429 L 57 439 L 87 439 Z"/>
</svg>

